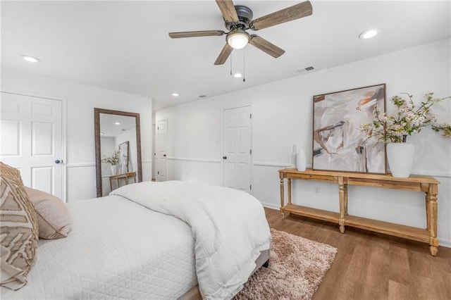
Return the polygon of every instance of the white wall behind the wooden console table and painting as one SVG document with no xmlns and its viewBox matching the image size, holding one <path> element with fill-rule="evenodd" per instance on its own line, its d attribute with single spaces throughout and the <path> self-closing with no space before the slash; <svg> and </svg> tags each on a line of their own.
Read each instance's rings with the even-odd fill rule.
<svg viewBox="0 0 451 300">
<path fill-rule="evenodd" d="M 238 92 L 166 108 L 155 119 L 168 118 L 168 179 L 221 185 L 221 114 L 224 108 L 252 106 L 254 196 L 279 208 L 277 170 L 288 166 L 292 144 L 304 149 L 311 166 L 312 97 L 386 83 L 388 99 L 401 92 L 451 95 L 450 39 L 328 70 L 298 75 Z M 451 101 L 433 110 L 438 120 L 451 123 Z M 451 246 L 451 139 L 426 128 L 409 137 L 415 145 L 413 173 L 440 181 L 438 237 Z M 320 194 L 316 194 L 319 187 Z M 338 187 L 319 182 L 295 182 L 295 204 L 338 211 Z M 349 211 L 354 215 L 426 227 L 424 194 L 390 189 L 349 187 Z"/>
</svg>

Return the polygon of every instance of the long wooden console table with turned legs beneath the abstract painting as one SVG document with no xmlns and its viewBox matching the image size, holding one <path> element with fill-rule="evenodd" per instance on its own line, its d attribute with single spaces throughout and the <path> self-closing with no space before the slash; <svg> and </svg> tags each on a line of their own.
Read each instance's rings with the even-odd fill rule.
<svg viewBox="0 0 451 300">
<path fill-rule="evenodd" d="M 392 175 L 375 175 L 364 173 L 344 173 L 335 171 L 319 171 L 307 169 L 298 171 L 294 169 L 279 170 L 280 177 L 280 212 L 282 218 L 290 213 L 303 215 L 309 218 L 326 220 L 340 225 L 340 232 L 345 232 L 345 225 L 380 232 L 385 235 L 395 235 L 405 239 L 413 239 L 430 245 L 431 254 L 435 256 L 438 251 L 437 239 L 437 194 L 438 182 L 430 176 L 414 176 L 397 178 Z M 284 201 L 284 181 L 288 180 L 288 204 Z M 291 180 L 314 180 L 338 184 L 340 199 L 340 213 L 323 211 L 321 209 L 299 206 L 291 203 Z M 395 223 L 371 220 L 347 214 L 347 186 L 360 185 L 366 187 L 383 187 L 386 189 L 404 189 L 408 191 L 426 193 L 426 229 L 399 225 Z"/>
</svg>

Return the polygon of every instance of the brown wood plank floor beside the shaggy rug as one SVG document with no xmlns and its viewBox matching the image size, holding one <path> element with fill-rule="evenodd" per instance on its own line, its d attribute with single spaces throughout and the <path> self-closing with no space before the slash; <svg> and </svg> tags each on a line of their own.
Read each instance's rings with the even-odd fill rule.
<svg viewBox="0 0 451 300">
<path fill-rule="evenodd" d="M 270 227 L 338 249 L 314 300 L 451 299 L 451 249 L 431 256 L 428 244 L 265 208 Z"/>
</svg>

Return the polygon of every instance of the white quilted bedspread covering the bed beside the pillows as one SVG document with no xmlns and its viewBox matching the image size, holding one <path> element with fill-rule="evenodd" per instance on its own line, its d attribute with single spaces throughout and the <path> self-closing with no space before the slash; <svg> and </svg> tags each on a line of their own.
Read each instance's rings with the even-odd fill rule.
<svg viewBox="0 0 451 300">
<path fill-rule="evenodd" d="M 197 284 L 190 226 L 121 196 L 68 204 L 67 238 L 39 240 L 28 283 L 1 299 L 177 299 Z"/>
</svg>

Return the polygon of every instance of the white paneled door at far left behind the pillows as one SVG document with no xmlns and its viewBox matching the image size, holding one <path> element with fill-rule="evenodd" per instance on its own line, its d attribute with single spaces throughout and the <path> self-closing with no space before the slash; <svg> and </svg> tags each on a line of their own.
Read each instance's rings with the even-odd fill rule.
<svg viewBox="0 0 451 300">
<path fill-rule="evenodd" d="M 63 199 L 61 101 L 1 92 L 0 159 L 24 185 Z"/>
</svg>

